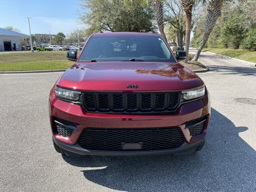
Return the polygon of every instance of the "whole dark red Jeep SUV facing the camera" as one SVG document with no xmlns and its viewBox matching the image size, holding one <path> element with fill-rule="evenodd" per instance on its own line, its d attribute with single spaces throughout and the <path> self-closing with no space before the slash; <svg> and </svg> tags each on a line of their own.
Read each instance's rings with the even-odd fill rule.
<svg viewBox="0 0 256 192">
<path fill-rule="evenodd" d="M 206 86 L 179 64 L 159 34 L 96 33 L 49 98 L 57 152 L 81 155 L 192 154 L 210 120 Z"/>
</svg>

